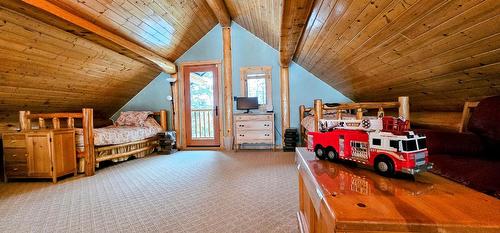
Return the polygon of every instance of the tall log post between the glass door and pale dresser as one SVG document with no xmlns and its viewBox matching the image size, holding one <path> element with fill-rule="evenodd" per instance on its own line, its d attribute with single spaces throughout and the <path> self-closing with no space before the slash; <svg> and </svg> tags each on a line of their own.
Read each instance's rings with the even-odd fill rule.
<svg viewBox="0 0 500 233">
<path fill-rule="evenodd" d="M 231 51 L 231 28 L 222 28 L 222 39 L 224 49 L 224 145 L 227 150 L 232 149 L 233 141 L 233 75 L 232 75 L 232 51 Z"/>
</svg>

